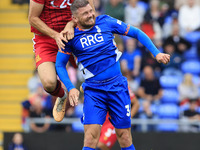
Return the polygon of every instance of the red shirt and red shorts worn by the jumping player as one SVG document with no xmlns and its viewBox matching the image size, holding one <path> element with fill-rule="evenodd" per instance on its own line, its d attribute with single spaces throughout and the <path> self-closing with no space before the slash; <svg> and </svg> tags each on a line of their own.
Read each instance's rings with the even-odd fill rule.
<svg viewBox="0 0 200 150">
<path fill-rule="evenodd" d="M 39 18 L 51 29 L 61 32 L 65 25 L 71 21 L 70 5 L 73 0 L 33 0 L 44 5 Z M 36 67 L 42 62 L 56 61 L 58 46 L 56 41 L 44 35 L 31 26 L 31 32 L 35 33 L 33 38 Z"/>
</svg>

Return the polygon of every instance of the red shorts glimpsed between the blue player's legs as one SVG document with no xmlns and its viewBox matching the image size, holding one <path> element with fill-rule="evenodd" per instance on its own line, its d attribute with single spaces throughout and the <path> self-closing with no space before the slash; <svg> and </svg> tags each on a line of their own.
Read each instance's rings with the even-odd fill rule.
<svg viewBox="0 0 200 150">
<path fill-rule="evenodd" d="M 115 128 L 110 121 L 106 119 L 101 128 L 99 142 L 104 143 L 109 149 L 111 149 L 116 141 L 117 136 L 115 133 Z"/>
</svg>

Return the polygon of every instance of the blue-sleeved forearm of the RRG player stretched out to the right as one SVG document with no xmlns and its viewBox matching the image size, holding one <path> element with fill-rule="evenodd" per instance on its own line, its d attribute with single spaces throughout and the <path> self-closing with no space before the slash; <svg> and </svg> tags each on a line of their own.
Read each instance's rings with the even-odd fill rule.
<svg viewBox="0 0 200 150">
<path fill-rule="evenodd" d="M 153 54 L 154 57 L 160 53 L 151 39 L 140 29 L 131 26 L 127 35 L 140 41 Z"/>
</svg>

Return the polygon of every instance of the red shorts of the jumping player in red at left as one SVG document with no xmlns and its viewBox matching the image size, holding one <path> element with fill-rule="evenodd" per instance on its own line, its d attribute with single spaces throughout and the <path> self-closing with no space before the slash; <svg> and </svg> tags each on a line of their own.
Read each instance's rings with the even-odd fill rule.
<svg viewBox="0 0 200 150">
<path fill-rule="evenodd" d="M 35 35 L 33 38 L 36 68 L 43 62 L 56 62 L 58 46 L 49 36 Z"/>
</svg>

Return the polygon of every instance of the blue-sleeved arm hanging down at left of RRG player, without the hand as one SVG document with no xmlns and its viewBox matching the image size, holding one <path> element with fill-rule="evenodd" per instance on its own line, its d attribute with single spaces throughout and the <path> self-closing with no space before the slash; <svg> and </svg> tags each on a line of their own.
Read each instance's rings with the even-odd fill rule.
<svg viewBox="0 0 200 150">
<path fill-rule="evenodd" d="M 75 88 L 72 82 L 69 79 L 68 72 L 66 70 L 66 64 L 69 60 L 70 55 L 63 54 L 61 52 L 58 52 L 57 58 L 56 58 L 56 71 L 60 78 L 60 80 L 64 83 L 65 87 L 67 88 L 68 92 Z"/>
</svg>

